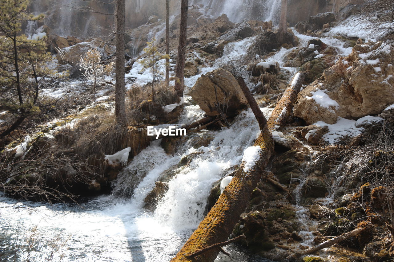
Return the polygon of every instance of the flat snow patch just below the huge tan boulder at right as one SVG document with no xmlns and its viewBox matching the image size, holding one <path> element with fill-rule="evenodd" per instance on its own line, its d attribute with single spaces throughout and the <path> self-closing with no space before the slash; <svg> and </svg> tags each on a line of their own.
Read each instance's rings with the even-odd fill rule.
<svg viewBox="0 0 394 262">
<path fill-rule="evenodd" d="M 330 125 L 323 121 L 319 121 L 314 123 L 314 125 L 328 128 L 328 132 L 323 135 L 323 139 L 330 144 L 335 144 L 344 136 L 355 137 L 361 134 L 361 131 L 364 130 L 362 127 L 356 127 L 355 120 L 345 119 L 342 117 L 338 117 L 335 124 Z"/>
</svg>

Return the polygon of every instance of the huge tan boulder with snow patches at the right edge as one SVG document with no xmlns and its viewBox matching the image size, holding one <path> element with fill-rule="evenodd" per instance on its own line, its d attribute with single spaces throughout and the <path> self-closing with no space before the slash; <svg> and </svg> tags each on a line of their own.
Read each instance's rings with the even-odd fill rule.
<svg viewBox="0 0 394 262">
<path fill-rule="evenodd" d="M 394 44 L 357 44 L 298 95 L 294 116 L 307 124 L 358 119 L 394 103 Z"/>
</svg>

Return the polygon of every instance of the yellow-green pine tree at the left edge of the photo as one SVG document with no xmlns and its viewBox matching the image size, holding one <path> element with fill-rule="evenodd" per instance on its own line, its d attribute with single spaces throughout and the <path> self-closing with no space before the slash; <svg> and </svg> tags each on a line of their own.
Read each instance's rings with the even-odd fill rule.
<svg viewBox="0 0 394 262">
<path fill-rule="evenodd" d="M 21 25 L 37 21 L 43 15 L 26 13 L 28 0 L 2 1 L 0 6 L 0 110 L 9 111 L 15 121 L 0 133 L 9 135 L 26 119 L 41 112 L 39 88 L 46 77 L 55 75 L 48 68 L 52 60 L 45 52 L 46 37 L 26 37 Z"/>
</svg>

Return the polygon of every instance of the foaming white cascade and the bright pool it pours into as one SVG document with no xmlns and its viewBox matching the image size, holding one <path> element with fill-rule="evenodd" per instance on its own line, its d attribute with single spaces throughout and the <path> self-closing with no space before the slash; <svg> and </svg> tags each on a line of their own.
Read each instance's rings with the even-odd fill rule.
<svg viewBox="0 0 394 262">
<path fill-rule="evenodd" d="M 263 109 L 266 117 L 271 111 Z M 181 119 L 202 112 L 189 105 Z M 191 136 L 171 156 L 161 148 L 160 141 L 152 142 L 115 183 L 118 194 L 135 188 L 131 198 L 101 196 L 80 206 L 24 202 L 14 209 L 11 206 L 15 201 L 2 196 L 0 205 L 10 208 L 6 215 L 0 214 L 0 253 L 9 260 L 16 256 L 15 261 L 40 261 L 53 255 L 52 246 L 57 246 L 55 260 L 65 256 L 69 261 L 81 262 L 169 261 L 203 219 L 212 184 L 226 174 L 226 169 L 240 163 L 243 150 L 253 144 L 258 130 L 253 113 L 245 111 L 231 127 L 206 131 L 213 138 L 208 146 L 194 148 L 196 138 Z M 183 156 L 196 152 L 199 153 L 193 161 L 169 181 L 169 189 L 156 210 L 143 209 L 144 198 L 160 174 Z M 133 174 L 143 178 L 135 179 Z M 29 239 L 32 240 L 26 242 Z M 10 250 L 19 253 L 15 255 Z M 247 258 L 242 257 L 238 261 Z"/>
</svg>

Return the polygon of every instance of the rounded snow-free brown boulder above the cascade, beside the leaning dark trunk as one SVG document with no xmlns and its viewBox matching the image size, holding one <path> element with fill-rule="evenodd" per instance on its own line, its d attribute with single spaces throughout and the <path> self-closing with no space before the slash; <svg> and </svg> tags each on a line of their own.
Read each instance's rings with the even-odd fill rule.
<svg viewBox="0 0 394 262">
<path fill-rule="evenodd" d="M 202 75 L 190 95 L 208 116 L 217 116 L 221 110 L 227 116 L 234 116 L 247 105 L 237 80 L 224 69 Z"/>
</svg>

